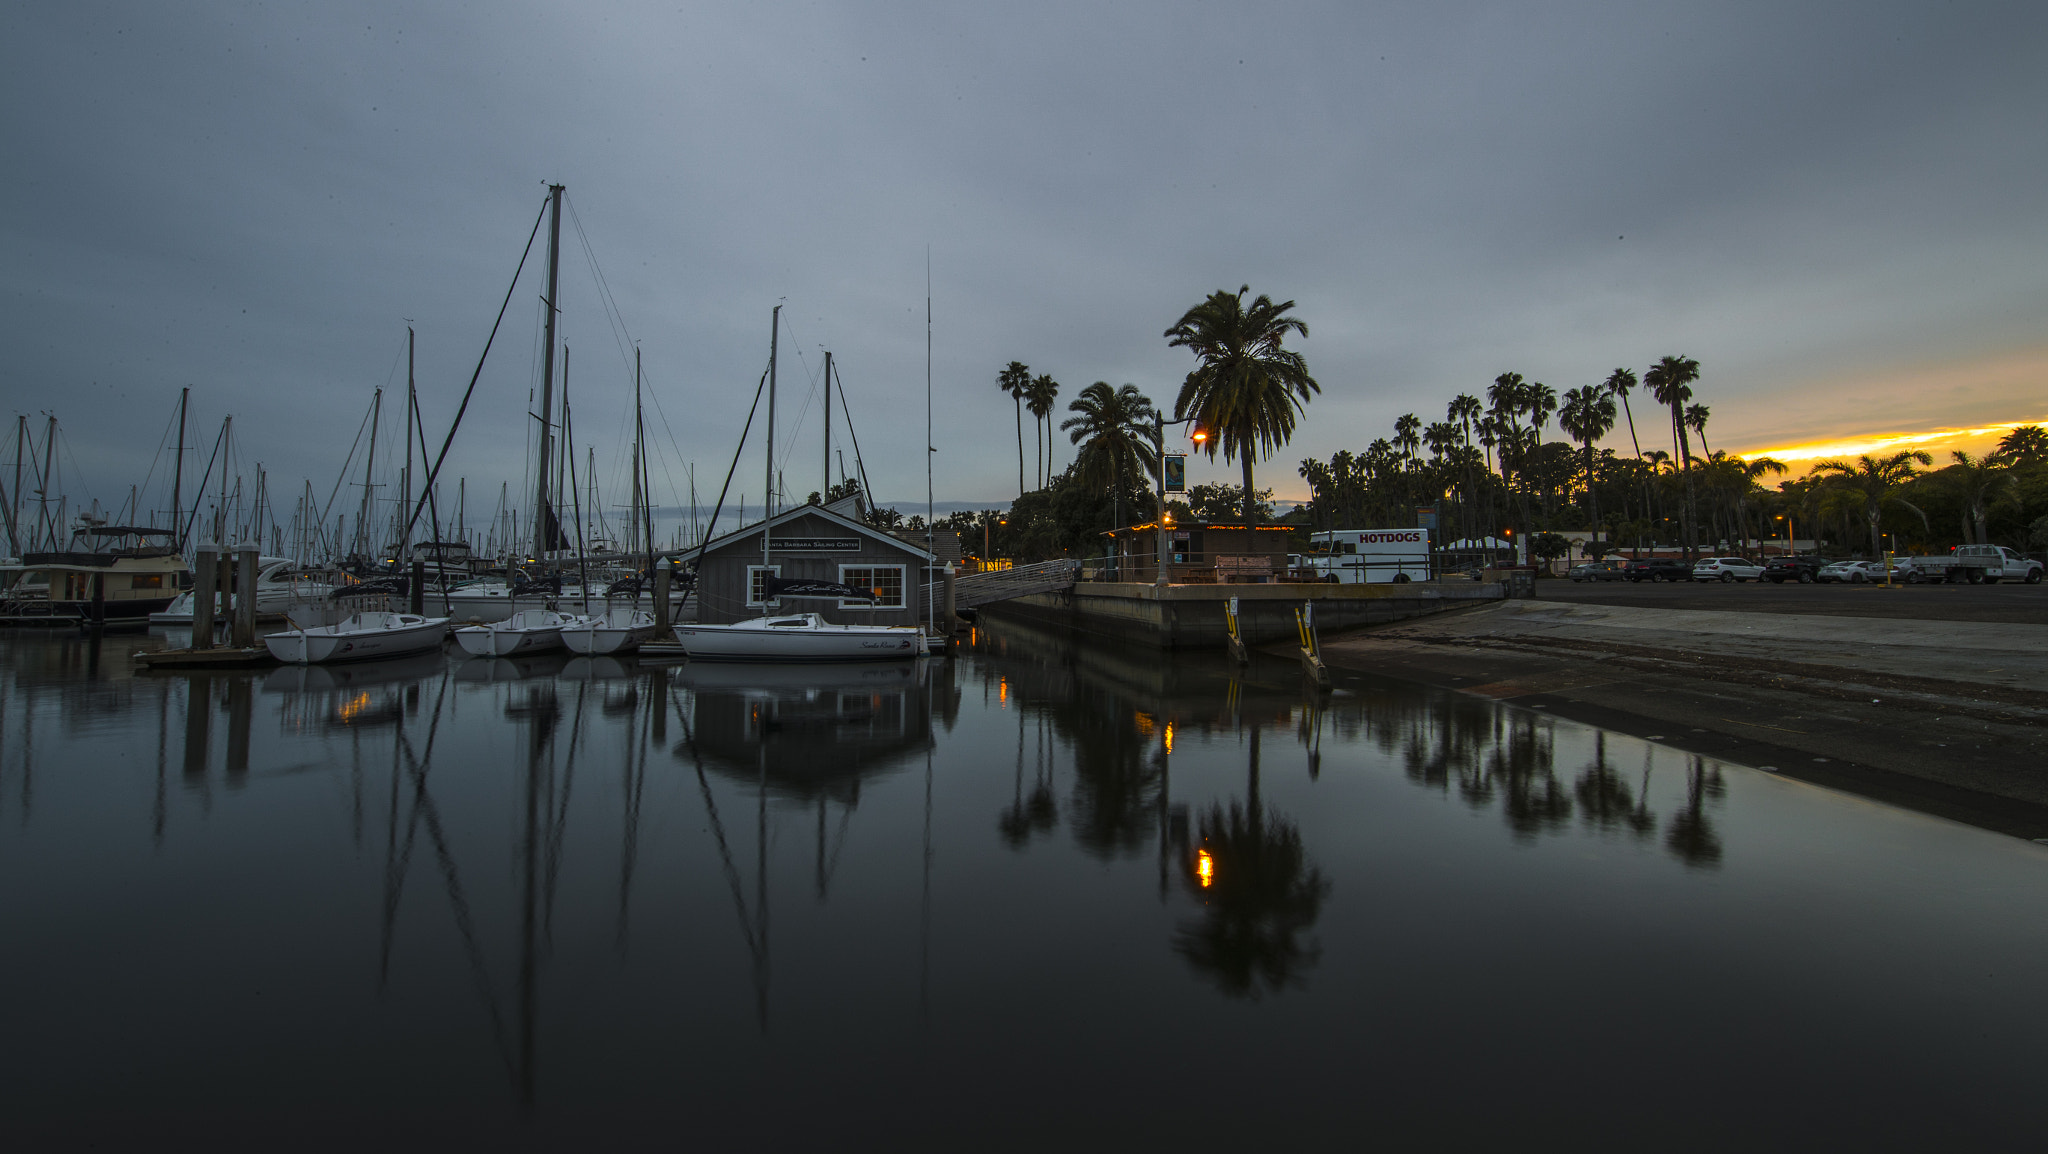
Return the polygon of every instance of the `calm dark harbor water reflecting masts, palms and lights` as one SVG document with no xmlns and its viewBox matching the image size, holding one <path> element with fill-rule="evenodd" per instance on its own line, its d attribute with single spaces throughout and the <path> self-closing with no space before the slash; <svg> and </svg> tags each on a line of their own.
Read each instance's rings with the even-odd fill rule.
<svg viewBox="0 0 2048 1154">
<path fill-rule="evenodd" d="M 0 637 L 39 1142 L 1982 1146 L 2048 849 L 1483 699 Z"/>
</svg>

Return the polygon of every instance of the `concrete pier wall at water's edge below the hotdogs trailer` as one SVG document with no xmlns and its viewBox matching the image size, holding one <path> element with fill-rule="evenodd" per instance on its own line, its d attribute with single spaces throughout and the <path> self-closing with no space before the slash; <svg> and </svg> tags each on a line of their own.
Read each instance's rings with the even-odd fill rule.
<svg viewBox="0 0 2048 1154">
<path fill-rule="evenodd" d="M 1237 599 L 1237 623 L 1247 646 L 1294 640 L 1294 609 L 1315 603 L 1323 631 L 1427 617 L 1468 605 L 1503 601 L 1499 582 L 1409 584 L 1135 584 L 1077 582 L 1067 592 L 1034 592 L 997 601 L 989 619 L 1030 621 L 1163 650 L 1223 650 L 1229 629 L 1223 609 Z"/>
</svg>

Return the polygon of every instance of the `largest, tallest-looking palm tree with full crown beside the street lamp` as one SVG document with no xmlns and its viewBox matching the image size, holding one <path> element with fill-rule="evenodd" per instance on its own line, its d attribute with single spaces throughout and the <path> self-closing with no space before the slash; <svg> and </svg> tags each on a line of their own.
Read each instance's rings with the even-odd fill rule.
<svg viewBox="0 0 2048 1154">
<path fill-rule="evenodd" d="M 1294 414 L 1323 391 L 1309 375 L 1300 353 L 1282 348 L 1288 332 L 1309 336 L 1309 326 L 1286 316 L 1294 301 L 1274 303 L 1260 293 L 1245 307 L 1237 293 L 1214 291 L 1165 330 L 1167 348 L 1188 348 L 1200 365 L 1174 398 L 1174 418 L 1196 418 L 1210 430 L 1202 443 L 1208 457 L 1235 457 L 1245 469 L 1245 525 L 1257 519 L 1257 490 L 1251 488 L 1251 459 L 1270 457 L 1294 435 Z"/>
</svg>

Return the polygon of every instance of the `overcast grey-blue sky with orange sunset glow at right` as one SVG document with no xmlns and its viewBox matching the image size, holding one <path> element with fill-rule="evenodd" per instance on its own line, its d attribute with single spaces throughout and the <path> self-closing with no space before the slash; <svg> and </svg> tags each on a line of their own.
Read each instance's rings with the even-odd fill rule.
<svg viewBox="0 0 2048 1154">
<path fill-rule="evenodd" d="M 190 467 L 233 414 L 242 467 L 324 500 L 408 318 L 438 447 L 551 180 L 606 502 L 627 340 L 657 496 L 694 461 L 709 504 L 786 301 L 786 486 L 831 348 L 879 496 L 922 506 L 926 252 L 940 500 L 1016 494 L 1008 361 L 1061 408 L 1169 400 L 1161 332 L 1245 283 L 1323 385 L 1282 496 L 1501 371 L 1667 353 L 1716 449 L 2048 416 L 2040 4 L 74 0 L 6 6 L 0 92 L 0 398 L 55 412 L 74 502 L 143 484 L 180 385 Z M 449 461 L 471 510 L 526 484 L 541 254 Z"/>
</svg>

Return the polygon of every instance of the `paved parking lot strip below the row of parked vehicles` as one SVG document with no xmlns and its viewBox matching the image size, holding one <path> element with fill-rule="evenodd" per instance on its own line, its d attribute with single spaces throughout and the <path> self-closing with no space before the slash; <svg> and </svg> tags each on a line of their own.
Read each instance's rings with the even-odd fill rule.
<svg viewBox="0 0 2048 1154">
<path fill-rule="evenodd" d="M 1634 609 L 1708 609 L 1739 613 L 1823 613 L 1915 621 L 2009 621 L 2048 625 L 2048 584 L 1772 584 L 1772 582 L 1536 582 L 1536 596 Z"/>
</svg>

